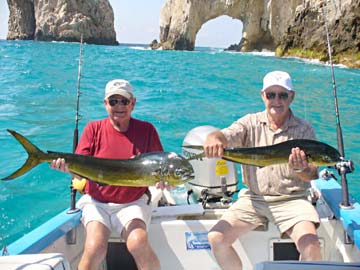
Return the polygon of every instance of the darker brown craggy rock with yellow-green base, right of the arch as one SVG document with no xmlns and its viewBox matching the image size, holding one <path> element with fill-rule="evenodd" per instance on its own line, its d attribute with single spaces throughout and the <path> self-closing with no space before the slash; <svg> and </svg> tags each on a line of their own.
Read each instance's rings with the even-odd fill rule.
<svg viewBox="0 0 360 270">
<path fill-rule="evenodd" d="M 326 27 L 335 63 L 360 67 L 360 0 L 307 1 L 298 9 L 277 54 L 329 60 Z M 325 24 L 326 23 L 326 24 Z"/>
</svg>

